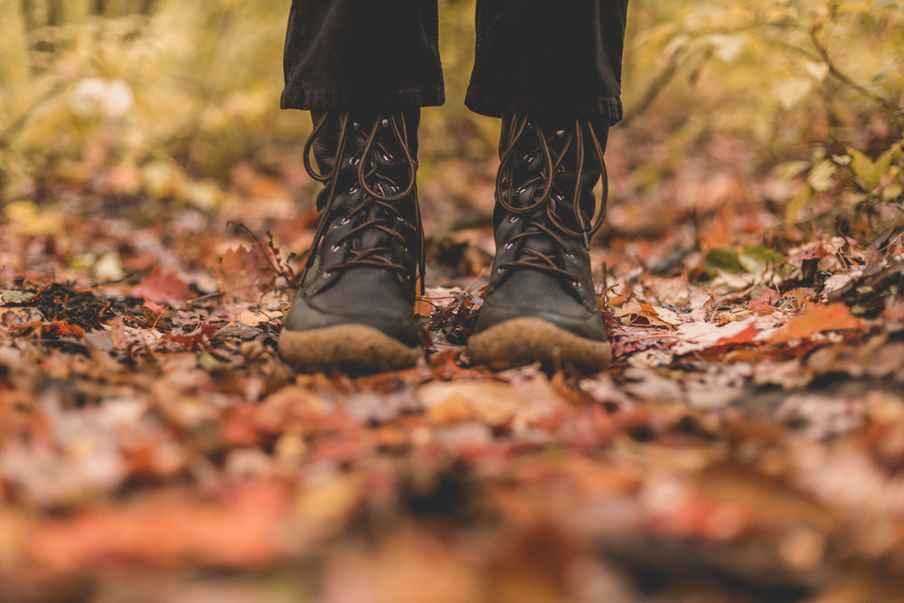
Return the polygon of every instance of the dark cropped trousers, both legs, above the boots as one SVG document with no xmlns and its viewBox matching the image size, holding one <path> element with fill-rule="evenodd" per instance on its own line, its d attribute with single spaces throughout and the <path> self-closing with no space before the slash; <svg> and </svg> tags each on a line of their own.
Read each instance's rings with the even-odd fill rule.
<svg viewBox="0 0 904 603">
<path fill-rule="evenodd" d="M 627 0 L 477 0 L 465 104 L 500 117 L 622 117 Z M 293 0 L 282 108 L 445 100 L 436 0 Z"/>
</svg>

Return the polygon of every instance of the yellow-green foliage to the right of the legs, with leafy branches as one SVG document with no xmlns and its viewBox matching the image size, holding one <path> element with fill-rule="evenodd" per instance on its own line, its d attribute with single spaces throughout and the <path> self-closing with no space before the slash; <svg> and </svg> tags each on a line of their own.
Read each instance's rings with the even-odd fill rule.
<svg viewBox="0 0 904 603">
<path fill-rule="evenodd" d="M 627 105 L 662 114 L 675 157 L 713 132 L 743 137 L 753 167 L 788 159 L 774 172 L 799 182 L 787 221 L 868 238 L 904 230 L 904 2 L 634 7 Z M 654 158 L 637 173 L 655 184 L 669 165 Z"/>
</svg>

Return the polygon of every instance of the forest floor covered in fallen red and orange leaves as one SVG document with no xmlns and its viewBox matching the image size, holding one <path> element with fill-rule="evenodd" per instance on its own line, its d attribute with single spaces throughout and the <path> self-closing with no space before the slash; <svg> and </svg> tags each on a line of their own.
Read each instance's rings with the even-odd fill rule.
<svg viewBox="0 0 904 603">
<path fill-rule="evenodd" d="M 300 160 L 8 203 L 0 601 L 901 600 L 904 244 L 786 225 L 793 184 L 707 144 L 641 189 L 613 134 L 598 374 L 468 361 L 494 165 L 421 184 L 429 349 L 376 375 L 276 351 Z"/>
</svg>

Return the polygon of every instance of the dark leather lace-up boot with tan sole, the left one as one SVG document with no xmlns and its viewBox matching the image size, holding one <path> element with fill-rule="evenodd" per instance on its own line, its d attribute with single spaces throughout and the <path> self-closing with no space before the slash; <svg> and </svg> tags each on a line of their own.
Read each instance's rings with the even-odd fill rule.
<svg viewBox="0 0 904 603">
<path fill-rule="evenodd" d="M 410 366 L 421 355 L 414 325 L 416 267 L 421 283 L 424 274 L 415 185 L 420 111 L 312 118 L 305 168 L 324 188 L 279 352 L 306 370 Z"/>
</svg>

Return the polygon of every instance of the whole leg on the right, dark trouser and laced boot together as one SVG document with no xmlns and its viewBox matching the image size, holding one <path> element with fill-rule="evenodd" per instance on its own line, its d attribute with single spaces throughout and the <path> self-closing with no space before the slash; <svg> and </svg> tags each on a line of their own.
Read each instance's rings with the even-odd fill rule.
<svg viewBox="0 0 904 603">
<path fill-rule="evenodd" d="M 607 128 L 622 115 L 626 0 L 478 0 L 466 104 L 503 118 L 496 257 L 472 361 L 601 368 L 611 358 L 590 277 L 605 209 Z"/>
</svg>

